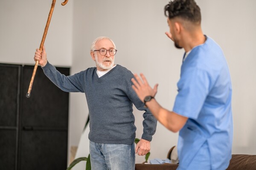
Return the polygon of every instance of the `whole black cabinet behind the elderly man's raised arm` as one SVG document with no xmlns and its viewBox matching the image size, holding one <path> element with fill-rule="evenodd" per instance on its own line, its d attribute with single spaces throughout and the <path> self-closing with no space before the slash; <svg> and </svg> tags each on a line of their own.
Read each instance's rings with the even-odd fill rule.
<svg viewBox="0 0 256 170">
<path fill-rule="evenodd" d="M 69 94 L 38 67 L 0 64 L 0 170 L 65 170 Z M 69 75 L 69 68 L 57 69 Z"/>
</svg>

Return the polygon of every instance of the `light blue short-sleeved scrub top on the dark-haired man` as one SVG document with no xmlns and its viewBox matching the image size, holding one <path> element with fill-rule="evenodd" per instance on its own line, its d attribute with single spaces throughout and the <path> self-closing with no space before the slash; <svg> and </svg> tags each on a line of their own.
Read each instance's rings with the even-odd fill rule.
<svg viewBox="0 0 256 170">
<path fill-rule="evenodd" d="M 179 133 L 178 169 L 194 169 L 196 160 L 208 155 L 212 170 L 226 169 L 233 140 L 232 86 L 224 54 L 210 37 L 183 62 L 177 87 L 173 111 L 188 117 Z"/>
</svg>

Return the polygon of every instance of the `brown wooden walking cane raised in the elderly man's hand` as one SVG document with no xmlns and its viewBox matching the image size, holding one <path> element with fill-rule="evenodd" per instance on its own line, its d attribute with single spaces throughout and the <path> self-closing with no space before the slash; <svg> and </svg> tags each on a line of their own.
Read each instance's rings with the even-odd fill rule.
<svg viewBox="0 0 256 170">
<path fill-rule="evenodd" d="M 67 1 L 68 0 L 65 0 L 63 3 L 61 3 L 61 5 L 62 6 L 66 5 Z M 56 2 L 56 0 L 52 0 L 52 7 L 51 7 L 50 12 L 49 12 L 48 20 L 47 20 L 47 23 L 46 23 L 46 26 L 45 26 L 45 29 L 44 29 L 44 35 L 43 35 L 43 38 L 42 38 L 42 41 L 41 41 L 41 44 L 40 44 L 40 48 L 39 48 L 39 50 L 41 52 L 42 52 L 42 49 L 43 49 L 43 46 L 44 46 L 44 40 L 45 40 L 46 35 L 47 35 L 48 27 L 49 27 L 49 24 L 50 24 L 50 21 L 51 21 L 51 18 L 52 18 L 52 12 L 53 12 L 53 9 L 54 9 L 54 6 L 55 6 L 55 2 Z M 34 67 L 33 74 L 32 74 L 31 80 L 30 80 L 29 89 L 28 89 L 28 92 L 26 94 L 27 98 L 30 97 L 30 92 L 32 90 L 32 85 L 33 85 L 33 82 L 34 82 L 37 67 L 38 67 L 38 60 L 35 62 L 35 67 Z"/>
</svg>

